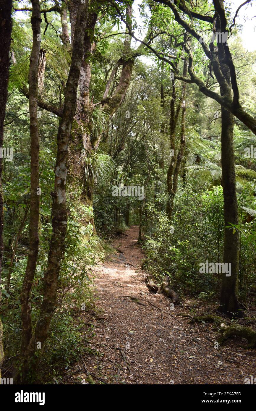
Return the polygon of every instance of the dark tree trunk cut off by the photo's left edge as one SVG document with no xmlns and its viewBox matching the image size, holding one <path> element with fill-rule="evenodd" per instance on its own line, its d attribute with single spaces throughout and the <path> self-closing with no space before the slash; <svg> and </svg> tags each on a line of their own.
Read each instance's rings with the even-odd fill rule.
<svg viewBox="0 0 256 411">
<path fill-rule="evenodd" d="M 7 88 L 9 79 L 9 50 L 12 35 L 12 0 L 2 0 L 0 4 L 0 147 L 4 141 L 5 107 L 7 103 Z M 0 159 L 0 302 L 2 282 L 2 256 L 3 256 L 3 193 L 2 193 L 2 159 Z M 4 359 L 2 345 L 2 322 L 0 319 L 0 378 L 1 365 Z"/>
</svg>

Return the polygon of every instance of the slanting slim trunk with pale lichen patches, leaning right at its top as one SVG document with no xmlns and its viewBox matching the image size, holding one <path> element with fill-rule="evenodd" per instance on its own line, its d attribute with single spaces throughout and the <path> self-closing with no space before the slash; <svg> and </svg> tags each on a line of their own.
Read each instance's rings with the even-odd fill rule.
<svg viewBox="0 0 256 411">
<path fill-rule="evenodd" d="M 76 92 L 83 59 L 85 24 L 88 14 L 88 1 L 80 3 L 76 16 L 76 28 L 72 48 L 72 58 L 67 80 L 63 114 L 57 136 L 57 157 L 55 165 L 55 184 L 52 206 L 53 233 L 48 254 L 48 265 L 44 279 L 44 297 L 35 330 L 35 344 L 40 342 L 43 352 L 51 318 L 54 314 L 60 264 L 64 257 L 67 231 L 66 180 L 68 145 L 71 126 L 76 111 Z M 35 345 L 33 346 L 33 351 Z"/>
</svg>

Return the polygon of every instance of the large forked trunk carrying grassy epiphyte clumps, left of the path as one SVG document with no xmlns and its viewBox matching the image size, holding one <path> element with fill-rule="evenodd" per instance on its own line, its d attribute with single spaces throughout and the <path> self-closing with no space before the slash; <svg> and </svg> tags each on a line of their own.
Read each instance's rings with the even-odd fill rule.
<svg viewBox="0 0 256 411">
<path fill-rule="evenodd" d="M 74 30 L 72 26 L 74 25 L 74 9 L 76 7 L 76 0 L 72 0 L 72 5 L 70 6 L 70 18 L 71 18 L 71 32 Z M 86 25 L 86 32 L 85 32 L 85 42 L 84 42 L 84 55 L 83 55 L 83 62 L 81 68 L 81 77 L 79 79 L 79 90 L 80 94 L 78 96 L 77 101 L 77 114 L 75 120 L 78 122 L 80 129 L 83 128 L 83 132 L 79 135 L 76 135 L 76 147 L 74 148 L 74 155 L 76 158 L 76 164 L 73 167 L 72 172 L 75 172 L 79 179 L 81 179 L 83 183 L 83 190 L 82 190 L 82 197 L 81 203 L 85 205 L 92 206 L 93 205 L 93 182 L 88 182 L 85 178 L 83 172 L 83 162 L 80 160 L 81 157 L 81 149 L 84 149 L 84 155 L 95 155 L 97 152 L 101 135 L 91 136 L 91 129 L 92 129 L 92 122 L 91 122 L 91 114 L 94 109 L 92 102 L 90 102 L 90 77 L 91 77 L 91 70 L 90 70 L 90 55 L 92 50 L 92 39 L 93 33 L 95 29 L 95 24 L 97 21 L 97 14 L 99 13 L 99 7 L 95 9 L 93 12 L 90 12 L 88 16 L 88 23 Z M 126 19 L 127 24 L 131 24 L 131 16 L 132 16 L 132 6 L 127 5 L 126 9 Z M 123 55 L 122 58 L 118 60 L 118 63 L 115 67 L 114 72 L 118 69 L 120 65 L 122 65 L 122 72 L 120 75 L 119 83 L 113 92 L 113 95 L 108 96 L 110 85 L 113 81 L 113 75 L 111 74 L 110 80 L 106 85 L 106 90 L 104 92 L 104 97 L 99 105 L 99 109 L 106 113 L 108 120 L 114 115 L 117 109 L 122 104 L 125 96 L 127 94 L 127 90 L 129 88 L 129 83 L 131 81 L 131 74 L 134 67 L 134 57 L 132 56 L 131 52 L 131 37 L 129 36 L 128 30 L 126 30 L 127 36 L 125 38 L 124 46 L 123 46 Z M 77 148 L 80 148 L 77 150 Z M 93 216 L 83 217 L 82 222 L 86 225 L 88 223 L 92 224 L 93 232 L 96 233 L 94 218 Z"/>
</svg>

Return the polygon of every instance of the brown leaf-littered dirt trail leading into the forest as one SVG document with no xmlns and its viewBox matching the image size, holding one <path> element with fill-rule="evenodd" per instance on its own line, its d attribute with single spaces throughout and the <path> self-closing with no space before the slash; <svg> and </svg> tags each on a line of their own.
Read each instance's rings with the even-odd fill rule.
<svg viewBox="0 0 256 411">
<path fill-rule="evenodd" d="M 123 253 L 113 254 L 95 270 L 97 305 L 103 319 L 97 323 L 91 348 L 84 362 L 95 383 L 110 384 L 243 384 L 256 376 L 256 354 L 235 342 L 214 349 L 216 330 L 209 324 L 188 324 L 177 316 L 188 312 L 196 301 L 170 310 L 170 301 L 152 294 L 141 270 L 143 251 L 136 245 L 138 227 L 114 240 Z M 136 296 L 139 302 L 129 297 Z M 152 305 L 156 305 L 161 311 Z"/>
</svg>

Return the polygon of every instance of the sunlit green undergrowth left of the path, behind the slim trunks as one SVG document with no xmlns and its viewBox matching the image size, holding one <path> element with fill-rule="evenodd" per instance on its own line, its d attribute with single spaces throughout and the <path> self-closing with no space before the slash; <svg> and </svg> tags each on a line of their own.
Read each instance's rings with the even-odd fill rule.
<svg viewBox="0 0 256 411">
<path fill-rule="evenodd" d="M 92 293 L 92 267 L 104 256 L 104 248 L 97 236 L 91 236 L 92 225 L 78 222 L 81 212 L 71 208 L 65 240 L 65 257 L 61 264 L 57 307 L 51 321 L 44 356 L 37 370 L 31 371 L 31 381 L 59 383 L 61 373 L 89 350 L 86 343 L 93 329 L 83 323 L 84 312 L 95 312 Z M 87 210 L 88 211 L 88 210 Z M 35 326 L 42 303 L 44 272 L 47 268 L 46 237 L 51 236 L 51 226 L 40 230 L 40 248 L 37 270 L 31 292 L 32 323 Z M 44 241 L 43 241 L 44 238 Z M 45 248 L 44 248 L 45 247 Z M 15 367 L 19 367 L 18 354 L 21 344 L 21 289 L 27 258 L 18 260 L 12 272 L 10 292 L 2 290 L 1 316 L 4 323 L 5 358 L 16 356 Z M 40 352 L 38 350 L 38 355 Z M 8 363 L 6 364 L 8 367 Z"/>
</svg>

